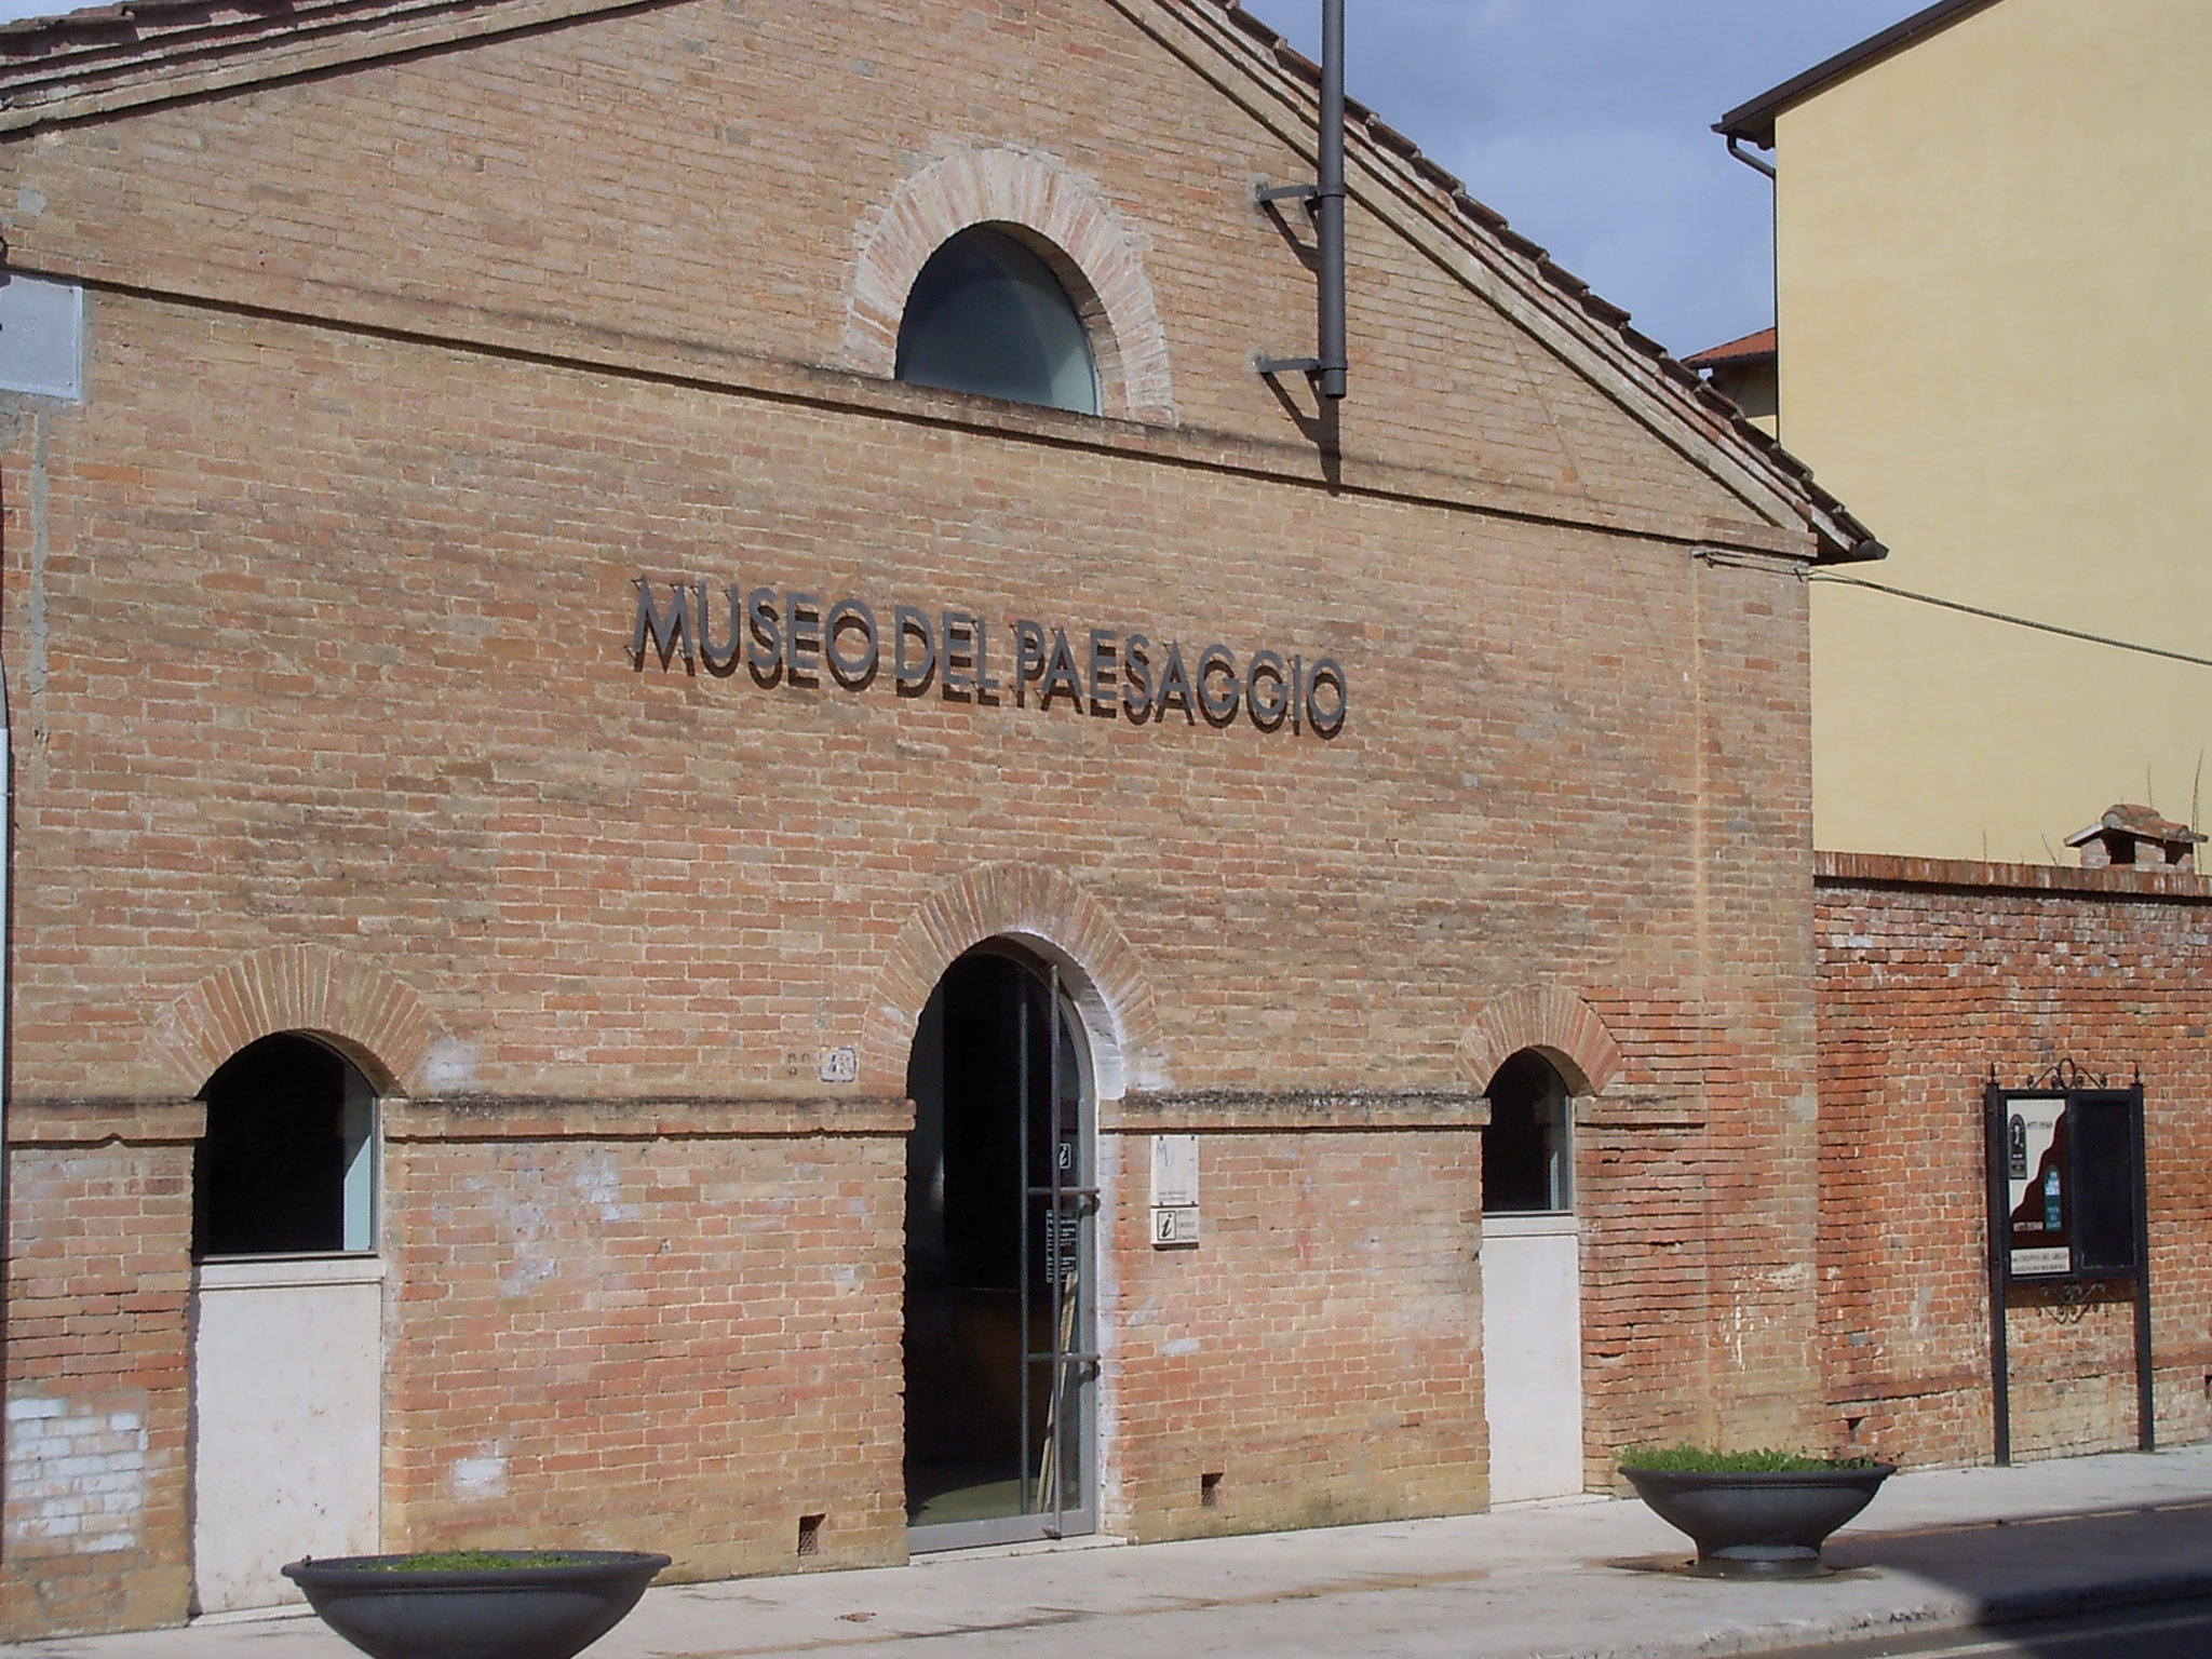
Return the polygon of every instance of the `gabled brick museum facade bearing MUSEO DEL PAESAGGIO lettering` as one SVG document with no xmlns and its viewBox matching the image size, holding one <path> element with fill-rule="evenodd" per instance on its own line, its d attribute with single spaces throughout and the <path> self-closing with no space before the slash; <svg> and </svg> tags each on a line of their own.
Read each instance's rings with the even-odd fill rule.
<svg viewBox="0 0 2212 1659">
<path fill-rule="evenodd" d="M 270 1599 L 332 1546 L 210 1482 L 310 1462 L 367 1546 L 681 1577 L 1480 1509 L 1484 1208 L 1571 1241 L 1551 1480 L 1832 1436 L 1798 575 L 1863 531 L 1365 117 L 1354 396 L 1259 376 L 1314 86 L 1250 18 L 0 55 L 11 288 L 82 305 L 0 451 L 11 1635 Z M 1097 414 L 900 378 L 975 226 Z M 1489 1201 L 1528 1055 L 1573 1135 Z M 210 1192 L 301 1197 L 252 1159 L 325 1064 L 327 1239 L 272 1245 Z M 1013 1513 L 916 1462 L 993 1411 Z"/>
</svg>

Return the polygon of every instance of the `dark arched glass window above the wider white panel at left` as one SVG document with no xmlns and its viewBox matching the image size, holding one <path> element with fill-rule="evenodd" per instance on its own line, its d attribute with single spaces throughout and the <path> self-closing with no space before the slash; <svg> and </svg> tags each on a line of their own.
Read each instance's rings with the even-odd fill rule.
<svg viewBox="0 0 2212 1659">
<path fill-rule="evenodd" d="M 312 1037 L 263 1037 L 201 1099 L 195 1259 L 376 1248 L 376 1091 L 356 1066 Z"/>
</svg>

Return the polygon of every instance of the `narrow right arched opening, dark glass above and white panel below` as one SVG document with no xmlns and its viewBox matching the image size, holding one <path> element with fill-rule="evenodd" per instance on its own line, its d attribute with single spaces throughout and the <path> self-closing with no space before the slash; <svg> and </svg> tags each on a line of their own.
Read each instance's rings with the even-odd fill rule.
<svg viewBox="0 0 2212 1659">
<path fill-rule="evenodd" d="M 1484 1091 L 1482 1389 L 1491 1502 L 1582 1491 L 1582 1228 L 1575 1102 L 1535 1048 Z"/>
</svg>

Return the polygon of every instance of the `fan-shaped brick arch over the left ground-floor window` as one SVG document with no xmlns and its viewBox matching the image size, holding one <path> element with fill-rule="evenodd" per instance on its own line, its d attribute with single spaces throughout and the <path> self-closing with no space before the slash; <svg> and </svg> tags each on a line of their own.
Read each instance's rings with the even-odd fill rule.
<svg viewBox="0 0 2212 1659">
<path fill-rule="evenodd" d="M 190 1093 L 279 1031 L 321 1037 L 383 1093 L 414 1093 L 445 1035 L 414 987 L 321 945 L 274 945 L 217 969 L 153 1020 L 153 1062 Z"/>
</svg>

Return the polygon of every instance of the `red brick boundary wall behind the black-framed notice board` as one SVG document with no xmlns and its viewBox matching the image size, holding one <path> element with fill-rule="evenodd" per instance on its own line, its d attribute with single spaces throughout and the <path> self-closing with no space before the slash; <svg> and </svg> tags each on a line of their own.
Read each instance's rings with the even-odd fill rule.
<svg viewBox="0 0 2212 1659">
<path fill-rule="evenodd" d="M 2212 1436 L 2212 887 L 2128 869 L 1823 854 L 1820 1332 L 1836 1433 L 1907 1462 L 1993 1449 L 1982 1088 L 2057 1062 L 2143 1079 L 2157 1431 Z M 2130 1287 L 2015 1290 L 2013 1455 L 2135 1447 Z"/>
</svg>

